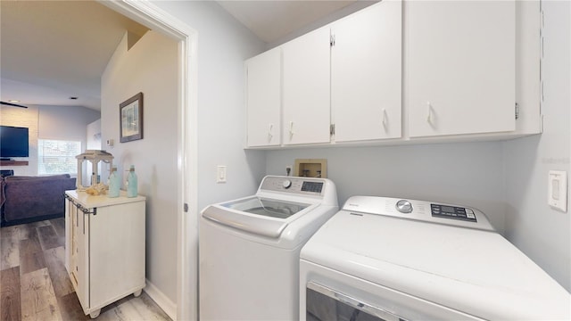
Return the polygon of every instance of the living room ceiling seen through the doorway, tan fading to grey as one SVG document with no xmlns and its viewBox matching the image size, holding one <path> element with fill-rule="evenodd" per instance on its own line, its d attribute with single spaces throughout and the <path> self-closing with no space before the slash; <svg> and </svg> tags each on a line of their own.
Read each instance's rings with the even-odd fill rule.
<svg viewBox="0 0 571 321">
<path fill-rule="evenodd" d="M 1 0 L 0 30 L 3 102 L 99 110 L 101 75 L 120 39 L 147 29 L 94 1 Z"/>
</svg>

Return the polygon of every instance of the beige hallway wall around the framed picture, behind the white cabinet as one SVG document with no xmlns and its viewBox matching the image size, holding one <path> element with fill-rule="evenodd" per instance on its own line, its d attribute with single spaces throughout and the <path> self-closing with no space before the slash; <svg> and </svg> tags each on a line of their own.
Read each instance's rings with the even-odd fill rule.
<svg viewBox="0 0 571 321">
<path fill-rule="evenodd" d="M 143 139 L 120 143 L 119 105 L 139 92 Z M 115 141 L 106 150 L 123 182 L 135 165 L 138 191 L 147 197 L 146 278 L 176 302 L 178 43 L 149 31 L 127 51 L 123 37 L 103 72 L 101 97 L 102 141 Z M 103 169 L 103 181 L 108 175 Z"/>
</svg>

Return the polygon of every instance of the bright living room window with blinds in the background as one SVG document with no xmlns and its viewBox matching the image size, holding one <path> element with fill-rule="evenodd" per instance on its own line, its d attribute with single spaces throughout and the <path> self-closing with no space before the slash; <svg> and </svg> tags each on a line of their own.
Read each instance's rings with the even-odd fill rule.
<svg viewBox="0 0 571 321">
<path fill-rule="evenodd" d="M 37 174 L 78 174 L 76 155 L 81 142 L 52 139 L 37 140 Z"/>
</svg>

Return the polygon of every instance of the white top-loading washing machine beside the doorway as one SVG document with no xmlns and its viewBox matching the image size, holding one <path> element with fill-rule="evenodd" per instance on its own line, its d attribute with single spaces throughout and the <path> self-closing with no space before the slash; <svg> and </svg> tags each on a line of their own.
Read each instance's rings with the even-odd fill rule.
<svg viewBox="0 0 571 321">
<path fill-rule="evenodd" d="M 338 210 L 331 180 L 273 176 L 253 196 L 204 209 L 200 319 L 296 319 L 302 245 Z"/>
</svg>

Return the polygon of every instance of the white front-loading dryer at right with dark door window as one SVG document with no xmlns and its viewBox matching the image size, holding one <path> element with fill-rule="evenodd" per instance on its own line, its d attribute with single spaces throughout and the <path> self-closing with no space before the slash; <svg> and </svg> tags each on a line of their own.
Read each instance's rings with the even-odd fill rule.
<svg viewBox="0 0 571 321">
<path fill-rule="evenodd" d="M 300 262 L 302 320 L 571 317 L 569 293 L 463 206 L 352 197 Z"/>
</svg>

